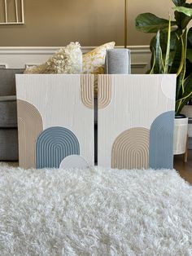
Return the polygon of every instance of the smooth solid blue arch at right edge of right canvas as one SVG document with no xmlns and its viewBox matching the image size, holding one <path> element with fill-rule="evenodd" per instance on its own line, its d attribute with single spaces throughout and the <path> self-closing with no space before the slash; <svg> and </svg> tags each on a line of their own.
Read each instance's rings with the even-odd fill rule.
<svg viewBox="0 0 192 256">
<path fill-rule="evenodd" d="M 150 168 L 173 168 L 174 111 L 162 113 L 150 130 Z"/>
</svg>

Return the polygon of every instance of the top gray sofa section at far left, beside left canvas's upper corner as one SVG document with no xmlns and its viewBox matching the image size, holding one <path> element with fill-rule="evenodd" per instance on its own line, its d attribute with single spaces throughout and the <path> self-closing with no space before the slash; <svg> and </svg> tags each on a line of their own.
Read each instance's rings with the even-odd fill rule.
<svg viewBox="0 0 192 256">
<path fill-rule="evenodd" d="M 24 73 L 24 69 L 0 69 L 0 96 L 16 95 L 15 74 Z"/>
</svg>

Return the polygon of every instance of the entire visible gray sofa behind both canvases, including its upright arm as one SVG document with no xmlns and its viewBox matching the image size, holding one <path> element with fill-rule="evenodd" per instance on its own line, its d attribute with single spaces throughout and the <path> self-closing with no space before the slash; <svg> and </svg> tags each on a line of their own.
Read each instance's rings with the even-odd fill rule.
<svg viewBox="0 0 192 256">
<path fill-rule="evenodd" d="M 107 51 L 106 73 L 130 73 L 129 50 Z M 18 130 L 15 74 L 24 69 L 0 69 L 0 161 L 18 161 Z M 97 100 L 95 101 L 94 130 L 97 152 Z M 95 153 L 95 161 L 97 155 Z"/>
</svg>

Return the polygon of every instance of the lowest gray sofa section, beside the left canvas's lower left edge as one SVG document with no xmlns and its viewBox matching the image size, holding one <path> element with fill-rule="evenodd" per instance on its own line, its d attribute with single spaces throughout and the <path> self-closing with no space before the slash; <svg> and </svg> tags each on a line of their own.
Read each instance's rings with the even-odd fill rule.
<svg viewBox="0 0 192 256">
<path fill-rule="evenodd" d="M 18 161 L 18 131 L 0 128 L 0 161 Z"/>
</svg>

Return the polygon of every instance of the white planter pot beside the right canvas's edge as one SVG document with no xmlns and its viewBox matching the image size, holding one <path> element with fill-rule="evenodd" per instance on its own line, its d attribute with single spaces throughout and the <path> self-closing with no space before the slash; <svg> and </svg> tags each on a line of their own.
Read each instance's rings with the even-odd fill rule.
<svg viewBox="0 0 192 256">
<path fill-rule="evenodd" d="M 174 127 L 174 155 L 184 154 L 186 151 L 188 133 L 188 117 L 175 118 Z"/>
</svg>

